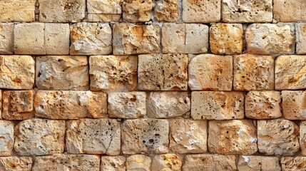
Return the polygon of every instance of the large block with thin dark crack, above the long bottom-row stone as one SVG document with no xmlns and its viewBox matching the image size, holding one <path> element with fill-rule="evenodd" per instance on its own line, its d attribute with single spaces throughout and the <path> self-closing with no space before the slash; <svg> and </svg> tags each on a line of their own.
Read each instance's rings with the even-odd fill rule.
<svg viewBox="0 0 306 171">
<path fill-rule="evenodd" d="M 120 154 L 120 123 L 111 119 L 81 119 L 67 122 L 68 153 Z"/>
</svg>

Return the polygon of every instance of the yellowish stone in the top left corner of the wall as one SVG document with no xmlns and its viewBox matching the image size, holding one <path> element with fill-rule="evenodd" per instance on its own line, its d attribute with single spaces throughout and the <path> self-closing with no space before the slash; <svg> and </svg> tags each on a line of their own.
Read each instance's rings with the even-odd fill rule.
<svg viewBox="0 0 306 171">
<path fill-rule="evenodd" d="M 35 20 L 36 0 L 0 1 L 0 22 Z"/>
</svg>

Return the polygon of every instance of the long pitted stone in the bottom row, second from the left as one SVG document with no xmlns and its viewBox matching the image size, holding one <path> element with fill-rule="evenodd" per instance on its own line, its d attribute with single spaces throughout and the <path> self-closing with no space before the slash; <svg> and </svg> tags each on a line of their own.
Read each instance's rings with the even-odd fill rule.
<svg viewBox="0 0 306 171">
<path fill-rule="evenodd" d="M 35 157 L 33 171 L 82 170 L 99 171 L 98 155 L 46 155 Z"/>
</svg>

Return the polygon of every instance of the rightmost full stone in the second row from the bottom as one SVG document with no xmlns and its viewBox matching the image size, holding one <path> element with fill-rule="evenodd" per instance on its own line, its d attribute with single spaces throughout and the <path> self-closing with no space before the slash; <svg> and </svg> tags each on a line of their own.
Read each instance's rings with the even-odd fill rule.
<svg viewBox="0 0 306 171">
<path fill-rule="evenodd" d="M 290 120 L 257 120 L 258 150 L 265 155 L 294 155 L 300 149 L 298 132 Z"/>
</svg>

